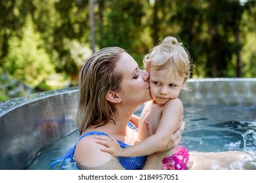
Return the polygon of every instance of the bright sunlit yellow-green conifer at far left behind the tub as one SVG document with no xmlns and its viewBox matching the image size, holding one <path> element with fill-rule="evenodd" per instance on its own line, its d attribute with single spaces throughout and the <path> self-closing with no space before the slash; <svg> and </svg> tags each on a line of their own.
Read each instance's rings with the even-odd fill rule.
<svg viewBox="0 0 256 183">
<path fill-rule="evenodd" d="M 37 86 L 54 73 L 54 66 L 45 52 L 39 33 L 35 33 L 30 16 L 22 29 L 22 38 L 11 37 L 5 68 L 28 86 Z"/>
</svg>

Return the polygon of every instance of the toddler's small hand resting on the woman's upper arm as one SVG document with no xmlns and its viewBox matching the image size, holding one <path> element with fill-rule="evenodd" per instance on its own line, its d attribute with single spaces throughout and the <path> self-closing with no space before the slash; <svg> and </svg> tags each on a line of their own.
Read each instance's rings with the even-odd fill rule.
<svg viewBox="0 0 256 183">
<path fill-rule="evenodd" d="M 115 157 L 119 157 L 121 155 L 123 148 L 120 147 L 116 139 L 112 139 L 111 137 L 104 135 L 96 135 L 95 138 L 98 144 L 105 146 L 104 148 L 100 148 L 101 151 L 108 152 Z"/>
</svg>

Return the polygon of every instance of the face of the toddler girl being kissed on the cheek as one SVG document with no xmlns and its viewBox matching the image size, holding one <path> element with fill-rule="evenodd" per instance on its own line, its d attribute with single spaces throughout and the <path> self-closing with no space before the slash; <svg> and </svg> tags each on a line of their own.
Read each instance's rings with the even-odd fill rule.
<svg viewBox="0 0 256 183">
<path fill-rule="evenodd" d="M 169 99 L 179 96 L 184 83 L 184 76 L 180 76 L 173 68 L 158 70 L 150 69 L 150 93 L 153 100 L 164 105 Z"/>
</svg>

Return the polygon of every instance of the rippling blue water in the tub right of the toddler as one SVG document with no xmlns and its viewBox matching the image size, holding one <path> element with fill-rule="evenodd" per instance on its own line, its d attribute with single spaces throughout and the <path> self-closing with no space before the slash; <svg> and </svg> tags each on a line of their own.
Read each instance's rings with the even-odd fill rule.
<svg viewBox="0 0 256 183">
<path fill-rule="evenodd" d="M 182 145 L 188 150 L 256 154 L 256 106 L 187 106 L 184 111 Z"/>
</svg>

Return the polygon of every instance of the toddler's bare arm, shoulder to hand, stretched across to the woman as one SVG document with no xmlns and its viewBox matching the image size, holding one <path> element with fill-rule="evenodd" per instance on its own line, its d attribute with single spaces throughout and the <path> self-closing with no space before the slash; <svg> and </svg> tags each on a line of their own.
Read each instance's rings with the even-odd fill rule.
<svg viewBox="0 0 256 183">
<path fill-rule="evenodd" d="M 154 152 L 160 152 L 168 145 L 171 135 L 179 127 L 179 120 L 182 114 L 183 106 L 181 101 L 179 99 L 171 99 L 163 107 L 156 133 L 139 144 L 122 149 L 114 139 L 112 141 L 106 141 L 106 138 L 98 139 L 97 142 L 106 146 L 101 148 L 102 151 L 109 152 L 117 157 L 147 156 Z"/>
</svg>

